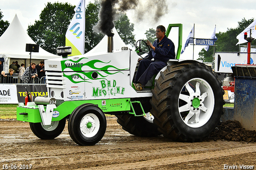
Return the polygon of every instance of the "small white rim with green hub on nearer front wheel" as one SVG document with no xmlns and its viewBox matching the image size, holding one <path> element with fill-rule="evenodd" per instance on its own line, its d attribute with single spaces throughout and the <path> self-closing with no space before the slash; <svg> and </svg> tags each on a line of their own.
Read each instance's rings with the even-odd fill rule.
<svg viewBox="0 0 256 170">
<path fill-rule="evenodd" d="M 80 122 L 80 131 L 82 134 L 91 138 L 95 136 L 100 129 L 100 120 L 93 113 L 85 115 Z"/>
</svg>

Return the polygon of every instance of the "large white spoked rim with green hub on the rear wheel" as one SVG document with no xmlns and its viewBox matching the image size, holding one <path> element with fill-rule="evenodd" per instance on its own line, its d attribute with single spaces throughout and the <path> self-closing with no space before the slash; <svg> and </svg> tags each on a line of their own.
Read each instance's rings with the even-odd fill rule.
<svg viewBox="0 0 256 170">
<path fill-rule="evenodd" d="M 186 94 L 182 94 L 184 89 Z M 189 127 L 198 128 L 205 125 L 214 110 L 214 93 L 209 83 L 200 78 L 186 82 L 180 91 L 178 110 L 180 117 Z"/>
</svg>

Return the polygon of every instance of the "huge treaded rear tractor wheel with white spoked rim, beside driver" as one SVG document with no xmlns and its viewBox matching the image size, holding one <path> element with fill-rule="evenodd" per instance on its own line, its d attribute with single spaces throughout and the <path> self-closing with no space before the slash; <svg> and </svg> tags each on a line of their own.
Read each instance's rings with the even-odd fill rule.
<svg viewBox="0 0 256 170">
<path fill-rule="evenodd" d="M 150 103 L 158 130 L 183 142 L 208 137 L 224 105 L 217 74 L 203 63 L 184 61 L 167 66 L 155 82 Z"/>
</svg>

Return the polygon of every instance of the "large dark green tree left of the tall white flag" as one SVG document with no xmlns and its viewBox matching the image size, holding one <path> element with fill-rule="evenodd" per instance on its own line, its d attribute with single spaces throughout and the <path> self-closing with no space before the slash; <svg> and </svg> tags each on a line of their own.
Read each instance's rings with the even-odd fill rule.
<svg viewBox="0 0 256 170">
<path fill-rule="evenodd" d="M 34 25 L 28 26 L 28 35 L 43 49 L 56 53 L 56 48 L 65 46 L 66 30 L 74 15 L 74 8 L 68 3 L 48 2 Z"/>
</svg>

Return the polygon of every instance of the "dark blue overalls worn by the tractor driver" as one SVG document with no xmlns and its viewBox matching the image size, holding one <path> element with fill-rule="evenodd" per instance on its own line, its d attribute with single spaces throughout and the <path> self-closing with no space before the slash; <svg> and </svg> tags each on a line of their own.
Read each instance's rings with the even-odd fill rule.
<svg viewBox="0 0 256 170">
<path fill-rule="evenodd" d="M 175 59 L 174 43 L 166 36 L 164 36 L 161 42 L 155 40 L 153 46 L 156 47 L 155 51 L 151 49 L 152 55 L 149 54 L 146 59 L 140 61 L 135 76 L 134 82 L 139 82 L 143 86 L 146 85 L 153 75 L 157 74 L 167 65 L 169 59 Z M 154 61 L 151 59 L 154 59 Z"/>
</svg>

